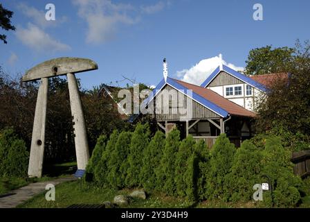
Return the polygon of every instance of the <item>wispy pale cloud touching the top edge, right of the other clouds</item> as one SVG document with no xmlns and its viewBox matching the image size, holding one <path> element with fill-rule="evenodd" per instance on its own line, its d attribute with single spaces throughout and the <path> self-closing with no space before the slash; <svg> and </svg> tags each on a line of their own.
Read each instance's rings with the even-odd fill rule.
<svg viewBox="0 0 310 222">
<path fill-rule="evenodd" d="M 108 0 L 75 0 L 78 15 L 86 20 L 86 42 L 98 44 L 110 40 L 119 24 L 135 24 L 138 17 L 129 15 L 134 8 L 129 4 L 111 3 Z"/>
</svg>

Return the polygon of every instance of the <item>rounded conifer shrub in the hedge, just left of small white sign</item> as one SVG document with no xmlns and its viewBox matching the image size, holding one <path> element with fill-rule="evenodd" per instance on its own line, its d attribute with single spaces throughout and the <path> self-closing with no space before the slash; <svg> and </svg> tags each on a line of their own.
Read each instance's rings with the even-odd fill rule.
<svg viewBox="0 0 310 222">
<path fill-rule="evenodd" d="M 253 186 L 262 182 L 262 151 L 246 140 L 237 149 L 231 173 L 228 175 L 226 193 L 230 200 L 248 201 L 253 198 Z"/>
</svg>

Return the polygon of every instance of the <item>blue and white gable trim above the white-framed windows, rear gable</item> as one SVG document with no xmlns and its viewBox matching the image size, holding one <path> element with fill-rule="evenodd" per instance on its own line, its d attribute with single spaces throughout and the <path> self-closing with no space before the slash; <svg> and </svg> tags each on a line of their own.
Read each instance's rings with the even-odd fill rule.
<svg viewBox="0 0 310 222">
<path fill-rule="evenodd" d="M 248 85 L 256 87 L 257 89 L 260 89 L 263 92 L 266 92 L 266 86 L 262 85 L 261 83 L 257 83 L 257 81 L 253 80 L 252 78 L 244 74 L 241 74 L 238 71 L 235 71 L 230 67 L 227 67 L 226 65 L 223 65 L 223 71 L 226 71 L 228 74 L 234 76 L 235 78 L 239 78 L 239 80 L 243 81 Z M 212 74 L 200 86 L 207 87 L 211 83 L 211 81 L 215 78 L 215 76 L 217 76 L 220 72 L 221 70 L 219 69 L 219 67 L 217 67 L 217 69 L 215 69 L 215 71 L 213 71 Z"/>
</svg>

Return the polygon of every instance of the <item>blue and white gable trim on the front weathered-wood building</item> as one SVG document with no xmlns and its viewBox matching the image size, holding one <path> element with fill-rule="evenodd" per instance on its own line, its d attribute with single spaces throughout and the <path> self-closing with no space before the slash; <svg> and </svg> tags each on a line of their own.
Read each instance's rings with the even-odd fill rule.
<svg viewBox="0 0 310 222">
<path fill-rule="evenodd" d="M 219 114 L 221 117 L 227 117 L 228 116 L 228 112 L 226 110 L 224 110 L 223 108 L 219 107 L 218 105 L 215 105 L 215 103 L 208 101 L 208 99 L 205 99 L 202 96 L 200 96 L 199 94 L 193 92 L 192 89 L 188 89 L 187 87 L 184 87 L 183 85 L 177 83 L 175 80 L 173 80 L 172 78 L 169 78 L 169 77 L 167 77 L 167 83 L 165 83 L 165 79 L 161 80 L 161 82 L 158 83 L 156 88 L 153 90 L 153 94 L 151 96 L 147 97 L 147 99 L 145 99 L 143 101 L 143 104 L 147 105 L 150 101 L 152 101 L 154 96 L 156 96 L 156 92 L 158 93 L 159 90 L 162 89 L 163 86 L 165 86 L 166 84 L 171 85 L 172 87 L 174 87 L 178 91 L 182 90 L 181 91 L 182 93 L 186 94 L 191 99 L 194 99 L 194 101 L 197 101 L 198 103 L 200 103 L 204 107 L 208 108 L 209 110 Z M 190 92 L 191 92 L 191 94 L 190 94 Z"/>
</svg>

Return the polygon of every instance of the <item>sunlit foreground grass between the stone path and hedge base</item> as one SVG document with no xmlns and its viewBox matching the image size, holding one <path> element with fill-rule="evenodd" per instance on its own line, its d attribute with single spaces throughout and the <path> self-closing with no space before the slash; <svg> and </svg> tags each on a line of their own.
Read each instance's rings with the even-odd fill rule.
<svg viewBox="0 0 310 222">
<path fill-rule="evenodd" d="M 46 201 L 45 193 L 38 194 L 34 198 L 27 200 L 25 203 L 17 207 L 25 208 L 53 208 L 53 207 L 69 207 L 73 204 L 101 204 L 104 201 L 112 201 L 114 196 L 118 194 L 129 194 L 132 190 L 123 189 L 116 191 L 113 189 L 99 189 L 91 185 L 83 184 L 80 188 L 80 181 L 65 182 L 56 186 L 55 201 Z M 206 200 L 201 203 L 193 203 L 185 198 L 175 198 L 165 196 L 160 193 L 154 193 L 147 197 L 146 200 L 134 198 L 126 207 L 164 207 L 164 208 L 253 208 L 259 207 L 256 201 L 248 201 L 246 203 L 223 203 L 221 201 Z M 310 196 L 302 198 L 300 207 L 310 207 Z"/>
</svg>

